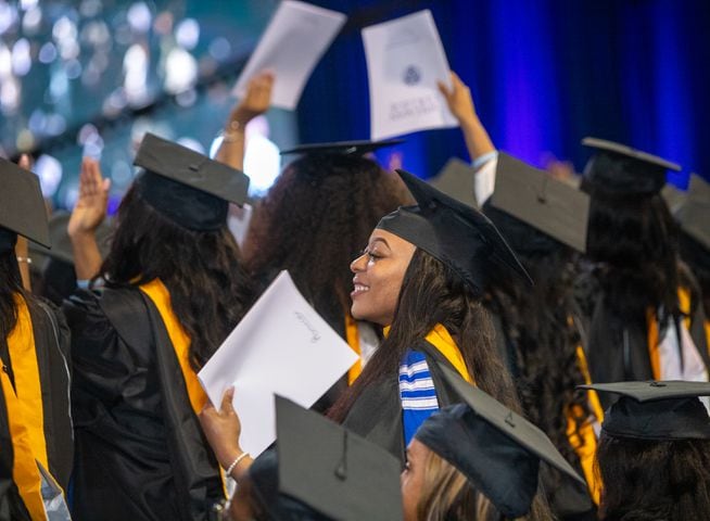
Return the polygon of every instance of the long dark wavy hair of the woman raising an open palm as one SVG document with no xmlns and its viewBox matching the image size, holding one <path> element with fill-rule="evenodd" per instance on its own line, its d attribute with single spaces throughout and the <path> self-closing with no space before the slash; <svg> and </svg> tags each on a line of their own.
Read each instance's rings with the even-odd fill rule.
<svg viewBox="0 0 710 521">
<path fill-rule="evenodd" d="M 227 225 L 216 231 L 183 228 L 150 206 L 134 185 L 118 209 L 111 251 L 101 266 L 110 287 L 160 279 L 190 336 L 198 370 L 252 302 L 252 290 Z"/>
</svg>

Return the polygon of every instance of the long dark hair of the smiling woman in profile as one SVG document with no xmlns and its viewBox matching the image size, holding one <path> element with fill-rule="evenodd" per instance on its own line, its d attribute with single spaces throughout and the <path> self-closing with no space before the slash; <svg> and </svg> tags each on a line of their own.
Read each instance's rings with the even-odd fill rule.
<svg viewBox="0 0 710 521">
<path fill-rule="evenodd" d="M 404 275 L 390 334 L 328 416 L 342 421 L 367 385 L 396 374 L 407 348 L 424 339 L 436 323 L 442 323 L 456 340 L 476 384 L 519 410 L 512 382 L 495 348 L 491 317 L 481 298 L 452 268 L 417 249 Z"/>
</svg>

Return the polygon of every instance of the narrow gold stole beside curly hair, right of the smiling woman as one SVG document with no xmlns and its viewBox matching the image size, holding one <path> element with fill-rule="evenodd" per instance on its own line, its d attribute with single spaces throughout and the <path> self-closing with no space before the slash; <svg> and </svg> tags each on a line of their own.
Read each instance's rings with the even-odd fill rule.
<svg viewBox="0 0 710 521">
<path fill-rule="evenodd" d="M 584 355 L 584 350 L 581 345 L 576 346 L 576 360 L 582 376 L 584 377 L 585 383 L 592 383 L 592 378 L 589 377 L 589 369 L 586 364 L 586 356 Z M 589 403 L 589 408 L 596 417 L 597 421 L 601 423 L 604 421 L 604 409 L 601 408 L 601 403 L 599 402 L 599 396 L 594 390 L 587 391 L 587 401 Z M 567 415 L 567 439 L 570 441 L 570 445 L 576 453 L 578 458 L 580 458 L 580 463 L 582 465 L 582 471 L 584 472 L 584 478 L 589 490 L 589 495 L 592 500 L 599 505 L 599 496 L 601 493 L 601 480 L 594 472 L 594 459 L 597 450 L 597 436 L 594 432 L 594 425 L 589 418 L 585 419 L 584 422 L 580 425 L 579 433 L 576 430 L 575 418 L 582 415 L 582 409 L 579 405 L 575 405 L 570 408 Z"/>
</svg>

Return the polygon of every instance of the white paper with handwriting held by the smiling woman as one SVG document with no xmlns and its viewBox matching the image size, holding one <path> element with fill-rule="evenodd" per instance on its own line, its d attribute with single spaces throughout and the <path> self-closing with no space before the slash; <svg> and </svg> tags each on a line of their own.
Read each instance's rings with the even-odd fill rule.
<svg viewBox="0 0 710 521">
<path fill-rule="evenodd" d="M 216 407 L 234 385 L 240 444 L 256 457 L 276 440 L 275 394 L 310 407 L 356 360 L 281 271 L 198 378 Z"/>
</svg>

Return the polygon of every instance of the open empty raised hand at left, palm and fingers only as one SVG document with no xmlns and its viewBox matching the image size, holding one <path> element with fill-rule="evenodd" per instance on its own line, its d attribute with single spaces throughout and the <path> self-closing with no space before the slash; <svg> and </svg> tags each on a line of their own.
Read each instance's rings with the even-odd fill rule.
<svg viewBox="0 0 710 521">
<path fill-rule="evenodd" d="M 81 161 L 79 199 L 68 224 L 68 234 L 74 238 L 93 233 L 106 216 L 111 179 L 101 176 L 99 162 L 89 157 Z"/>
</svg>

